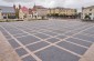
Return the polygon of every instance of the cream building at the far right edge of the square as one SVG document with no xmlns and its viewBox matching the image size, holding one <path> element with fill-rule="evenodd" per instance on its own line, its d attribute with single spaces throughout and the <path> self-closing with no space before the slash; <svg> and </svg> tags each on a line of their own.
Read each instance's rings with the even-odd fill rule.
<svg viewBox="0 0 94 61">
<path fill-rule="evenodd" d="M 94 6 L 82 8 L 82 19 L 94 20 Z"/>
</svg>

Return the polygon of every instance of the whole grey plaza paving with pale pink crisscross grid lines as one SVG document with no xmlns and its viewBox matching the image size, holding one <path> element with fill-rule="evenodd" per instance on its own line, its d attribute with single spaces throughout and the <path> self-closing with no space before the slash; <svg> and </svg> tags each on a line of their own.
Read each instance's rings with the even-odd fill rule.
<svg viewBox="0 0 94 61">
<path fill-rule="evenodd" d="M 94 23 L 80 21 L 3 22 L 0 31 L 23 61 L 79 61 L 94 43 Z"/>
</svg>

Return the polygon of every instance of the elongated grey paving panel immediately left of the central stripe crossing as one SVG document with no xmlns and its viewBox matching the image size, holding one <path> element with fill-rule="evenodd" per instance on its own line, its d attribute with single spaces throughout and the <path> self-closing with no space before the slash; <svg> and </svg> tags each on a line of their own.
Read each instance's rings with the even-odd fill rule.
<svg viewBox="0 0 94 61">
<path fill-rule="evenodd" d="M 35 44 L 28 45 L 27 48 L 31 51 L 35 51 L 35 50 L 44 48 L 46 45 L 49 45 L 49 43 L 42 41 L 42 42 L 38 42 Z"/>
</svg>

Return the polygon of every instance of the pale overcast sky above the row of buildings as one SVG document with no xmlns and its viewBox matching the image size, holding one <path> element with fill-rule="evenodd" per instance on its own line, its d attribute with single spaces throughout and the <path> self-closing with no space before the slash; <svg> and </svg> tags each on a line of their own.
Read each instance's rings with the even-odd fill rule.
<svg viewBox="0 0 94 61">
<path fill-rule="evenodd" d="M 82 7 L 94 6 L 94 0 L 0 0 L 0 6 L 22 4 L 32 7 L 34 3 L 48 8 L 65 7 L 81 9 Z"/>
</svg>

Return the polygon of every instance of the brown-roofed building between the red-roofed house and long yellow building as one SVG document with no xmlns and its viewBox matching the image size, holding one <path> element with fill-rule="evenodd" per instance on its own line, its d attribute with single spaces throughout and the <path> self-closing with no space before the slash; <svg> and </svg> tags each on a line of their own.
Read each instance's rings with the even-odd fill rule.
<svg viewBox="0 0 94 61">
<path fill-rule="evenodd" d="M 48 9 L 42 6 L 34 6 L 32 9 L 33 17 L 36 19 L 46 19 Z"/>
</svg>

